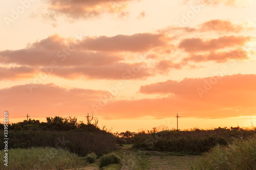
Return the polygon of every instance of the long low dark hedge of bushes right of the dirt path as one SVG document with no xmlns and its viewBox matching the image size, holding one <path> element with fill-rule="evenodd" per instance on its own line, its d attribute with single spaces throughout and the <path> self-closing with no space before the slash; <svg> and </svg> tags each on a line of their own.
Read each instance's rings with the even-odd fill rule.
<svg viewBox="0 0 256 170">
<path fill-rule="evenodd" d="M 134 147 L 148 151 L 207 152 L 219 145 L 227 145 L 234 139 L 248 139 L 255 136 L 256 128 L 215 128 L 211 130 L 191 129 L 186 131 L 165 130 L 142 131 L 134 136 Z"/>
</svg>

